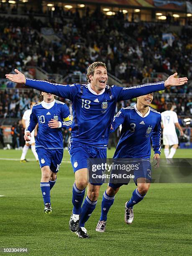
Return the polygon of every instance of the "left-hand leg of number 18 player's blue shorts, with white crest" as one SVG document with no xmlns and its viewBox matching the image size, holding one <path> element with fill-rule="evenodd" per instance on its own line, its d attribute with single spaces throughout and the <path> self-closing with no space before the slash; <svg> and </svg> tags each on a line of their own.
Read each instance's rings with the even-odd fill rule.
<svg viewBox="0 0 192 256">
<path fill-rule="evenodd" d="M 71 156 L 71 163 L 74 173 L 80 169 L 87 170 L 87 159 L 90 158 L 90 154 L 87 151 L 87 147 L 83 143 L 77 141 L 70 141 L 69 154 Z"/>
</svg>

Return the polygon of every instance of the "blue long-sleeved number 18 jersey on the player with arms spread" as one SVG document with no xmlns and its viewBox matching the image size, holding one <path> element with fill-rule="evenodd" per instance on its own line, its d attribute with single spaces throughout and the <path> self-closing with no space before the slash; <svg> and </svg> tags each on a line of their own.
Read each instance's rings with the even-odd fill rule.
<svg viewBox="0 0 192 256">
<path fill-rule="evenodd" d="M 164 90 L 164 82 L 134 87 L 108 85 L 97 95 L 90 84 L 52 84 L 26 78 L 26 85 L 72 101 L 72 140 L 106 148 L 116 103 Z"/>
</svg>

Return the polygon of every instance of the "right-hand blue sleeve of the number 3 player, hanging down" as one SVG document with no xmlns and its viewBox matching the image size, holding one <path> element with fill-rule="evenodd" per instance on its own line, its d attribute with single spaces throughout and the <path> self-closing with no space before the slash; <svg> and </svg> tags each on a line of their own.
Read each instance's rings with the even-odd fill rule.
<svg viewBox="0 0 192 256">
<path fill-rule="evenodd" d="M 159 115 L 158 123 L 156 124 L 151 134 L 152 146 L 155 154 L 161 154 L 161 115 Z"/>
</svg>

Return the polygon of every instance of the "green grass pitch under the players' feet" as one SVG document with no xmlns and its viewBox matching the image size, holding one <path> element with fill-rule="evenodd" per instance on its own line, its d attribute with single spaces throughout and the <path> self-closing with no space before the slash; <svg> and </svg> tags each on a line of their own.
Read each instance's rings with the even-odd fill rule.
<svg viewBox="0 0 192 256">
<path fill-rule="evenodd" d="M 114 149 L 108 151 L 113 156 Z M 21 151 L 0 150 L 0 159 L 19 159 Z M 164 154 L 162 154 L 164 157 Z M 192 150 L 177 150 L 175 157 L 192 157 Z M 33 159 L 29 150 L 27 159 Z M 38 163 L 0 160 L 0 248 L 28 248 L 28 255 L 192 255 L 192 185 L 151 184 L 146 198 L 134 207 L 132 225 L 124 223 L 124 204 L 135 185 L 123 186 L 108 214 L 105 233 L 95 232 L 97 207 L 85 226 L 90 239 L 69 230 L 74 174 L 64 151 L 55 187 L 51 190 L 51 215 L 44 214 L 41 171 Z M 0 253 L 1 255 L 15 255 Z"/>
</svg>

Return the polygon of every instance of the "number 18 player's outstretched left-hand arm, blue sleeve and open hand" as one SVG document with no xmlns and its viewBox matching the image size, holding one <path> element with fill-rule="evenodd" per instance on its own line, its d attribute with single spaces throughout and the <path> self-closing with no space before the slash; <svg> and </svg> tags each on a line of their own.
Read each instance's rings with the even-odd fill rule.
<svg viewBox="0 0 192 256">
<path fill-rule="evenodd" d="M 73 100 L 74 95 L 78 92 L 78 89 L 74 84 L 53 84 L 46 81 L 29 79 L 26 78 L 23 73 L 18 71 L 18 69 L 15 69 L 15 73 L 16 74 L 6 74 L 5 76 L 12 82 L 25 84 L 36 90 L 52 93 L 69 100 Z"/>
</svg>

